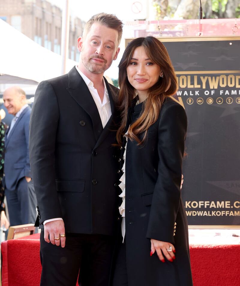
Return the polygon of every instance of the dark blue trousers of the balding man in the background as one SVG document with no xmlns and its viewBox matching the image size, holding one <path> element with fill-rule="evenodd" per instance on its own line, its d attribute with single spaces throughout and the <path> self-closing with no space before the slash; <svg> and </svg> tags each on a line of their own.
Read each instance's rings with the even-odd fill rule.
<svg viewBox="0 0 240 286">
<path fill-rule="evenodd" d="M 25 177 L 21 178 L 16 190 L 5 189 L 5 196 L 10 226 L 35 223 L 37 199 L 32 180 L 28 183 Z"/>
</svg>

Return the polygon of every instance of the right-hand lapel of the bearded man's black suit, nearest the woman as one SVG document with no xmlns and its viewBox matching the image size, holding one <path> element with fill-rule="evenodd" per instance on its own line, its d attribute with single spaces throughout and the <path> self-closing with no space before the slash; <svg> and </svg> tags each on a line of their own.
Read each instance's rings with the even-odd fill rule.
<svg viewBox="0 0 240 286">
<path fill-rule="evenodd" d="M 110 84 L 107 82 L 106 78 L 104 78 L 105 80 L 105 83 L 106 83 L 106 86 L 107 86 L 107 91 L 108 91 L 108 96 L 109 96 L 109 99 L 110 99 L 110 106 L 111 106 L 111 112 L 112 112 L 112 115 L 110 116 L 106 126 L 104 127 L 97 143 L 96 143 L 96 146 L 95 148 L 97 148 L 103 141 L 104 139 L 107 137 L 107 135 L 109 134 L 109 132 L 113 132 L 114 130 L 114 121 L 113 121 L 113 118 L 115 116 L 115 105 L 116 105 L 116 101 L 117 101 L 117 97 L 118 95 L 116 94 L 116 92 L 113 90 L 113 88 L 110 86 Z"/>
</svg>

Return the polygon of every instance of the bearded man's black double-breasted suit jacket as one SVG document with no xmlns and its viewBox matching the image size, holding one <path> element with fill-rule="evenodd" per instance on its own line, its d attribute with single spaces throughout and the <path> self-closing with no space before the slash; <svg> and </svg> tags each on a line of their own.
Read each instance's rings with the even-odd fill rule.
<svg viewBox="0 0 240 286">
<path fill-rule="evenodd" d="M 75 67 L 36 90 L 29 152 L 40 225 L 61 217 L 66 232 L 114 233 L 118 174 L 112 130 L 118 89 L 105 82 L 112 116 L 104 129 Z"/>
</svg>

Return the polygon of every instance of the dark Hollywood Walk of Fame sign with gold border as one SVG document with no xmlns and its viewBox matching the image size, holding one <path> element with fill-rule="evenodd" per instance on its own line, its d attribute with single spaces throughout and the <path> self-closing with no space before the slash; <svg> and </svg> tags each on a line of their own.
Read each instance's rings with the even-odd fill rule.
<svg viewBox="0 0 240 286">
<path fill-rule="evenodd" d="M 188 118 L 182 187 L 188 224 L 240 227 L 240 37 L 159 40 Z"/>
</svg>

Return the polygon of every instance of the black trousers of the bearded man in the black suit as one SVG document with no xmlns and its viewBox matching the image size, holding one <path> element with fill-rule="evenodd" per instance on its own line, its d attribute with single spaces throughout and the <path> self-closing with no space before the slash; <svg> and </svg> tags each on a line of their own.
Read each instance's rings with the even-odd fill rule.
<svg viewBox="0 0 240 286">
<path fill-rule="evenodd" d="M 40 236 L 41 286 L 107 286 L 113 258 L 113 236 L 66 233 L 66 246 Z"/>
</svg>

